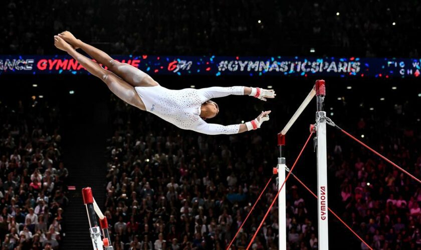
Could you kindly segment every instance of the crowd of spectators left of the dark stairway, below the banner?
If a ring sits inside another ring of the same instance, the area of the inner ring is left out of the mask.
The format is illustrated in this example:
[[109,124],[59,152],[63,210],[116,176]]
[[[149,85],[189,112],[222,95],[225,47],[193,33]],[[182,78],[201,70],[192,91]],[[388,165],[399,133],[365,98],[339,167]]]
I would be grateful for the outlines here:
[[58,249],[68,175],[59,109],[37,99],[0,101],[1,249]]

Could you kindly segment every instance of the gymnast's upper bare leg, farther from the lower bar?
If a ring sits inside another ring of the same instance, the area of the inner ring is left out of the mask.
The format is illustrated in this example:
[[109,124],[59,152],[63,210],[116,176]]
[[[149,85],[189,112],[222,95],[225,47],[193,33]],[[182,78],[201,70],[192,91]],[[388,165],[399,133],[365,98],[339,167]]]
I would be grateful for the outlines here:
[[114,60],[104,51],[89,45],[70,33],[69,31],[64,31],[59,34],[61,38],[70,43],[75,48],[82,48],[87,54],[94,58],[98,63],[106,66],[108,70],[115,73],[119,77],[123,78],[125,81],[130,83],[130,85],[136,86],[156,86],[159,85],[158,82],[152,79],[147,73],[142,70],[127,64]]

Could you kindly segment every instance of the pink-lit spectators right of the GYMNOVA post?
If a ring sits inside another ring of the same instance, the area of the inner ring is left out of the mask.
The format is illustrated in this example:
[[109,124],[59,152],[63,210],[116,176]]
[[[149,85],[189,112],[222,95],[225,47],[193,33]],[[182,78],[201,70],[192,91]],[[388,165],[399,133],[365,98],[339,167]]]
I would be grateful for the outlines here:
[[[369,135],[376,149],[421,177],[421,130],[408,103],[385,115],[360,118],[355,132]],[[379,111],[381,113],[382,111]],[[410,121],[413,120],[413,121]],[[386,136],[385,136],[386,135]],[[340,187],[343,218],[374,249],[421,247],[421,187],[412,177],[365,148],[338,139],[328,166]],[[369,249],[361,243],[361,249]]]

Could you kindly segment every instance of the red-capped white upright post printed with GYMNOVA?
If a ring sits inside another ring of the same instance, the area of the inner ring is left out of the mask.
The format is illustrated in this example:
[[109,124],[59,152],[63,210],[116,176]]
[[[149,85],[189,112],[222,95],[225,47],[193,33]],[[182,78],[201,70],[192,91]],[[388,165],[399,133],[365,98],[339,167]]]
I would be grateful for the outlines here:
[[319,249],[329,249],[328,219],[327,219],[327,152],[326,152],[326,112],[323,111],[323,101],[326,94],[325,81],[316,81],[317,112],[317,213],[319,227]]

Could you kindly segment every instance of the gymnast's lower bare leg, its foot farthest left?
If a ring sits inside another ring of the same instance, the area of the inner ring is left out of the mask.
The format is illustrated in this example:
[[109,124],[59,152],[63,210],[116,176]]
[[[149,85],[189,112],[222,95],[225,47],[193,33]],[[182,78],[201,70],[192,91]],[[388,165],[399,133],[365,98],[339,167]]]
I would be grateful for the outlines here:
[[142,99],[139,97],[132,85],[125,82],[123,79],[119,78],[112,72],[104,69],[95,61],[77,52],[69,43],[67,43],[57,35],[54,36],[54,45],[56,45],[57,48],[68,52],[91,74],[102,79],[105,82],[105,84],[107,84],[108,88],[120,99],[124,100],[130,105],[138,107],[142,110],[146,110],[145,104],[143,103]]

